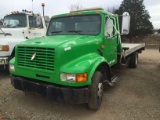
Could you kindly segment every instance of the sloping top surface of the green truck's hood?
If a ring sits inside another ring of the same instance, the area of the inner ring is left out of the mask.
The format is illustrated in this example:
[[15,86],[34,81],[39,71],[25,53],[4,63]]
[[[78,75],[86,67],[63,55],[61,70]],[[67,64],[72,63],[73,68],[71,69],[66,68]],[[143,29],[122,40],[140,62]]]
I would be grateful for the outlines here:
[[47,48],[55,48],[57,46],[73,46],[76,44],[83,44],[87,42],[93,41],[93,39],[97,39],[95,36],[81,36],[81,35],[55,35],[55,36],[45,36],[42,38],[35,38],[31,40],[27,40],[25,42],[20,43],[19,45],[24,46],[35,46],[35,47],[47,47]]

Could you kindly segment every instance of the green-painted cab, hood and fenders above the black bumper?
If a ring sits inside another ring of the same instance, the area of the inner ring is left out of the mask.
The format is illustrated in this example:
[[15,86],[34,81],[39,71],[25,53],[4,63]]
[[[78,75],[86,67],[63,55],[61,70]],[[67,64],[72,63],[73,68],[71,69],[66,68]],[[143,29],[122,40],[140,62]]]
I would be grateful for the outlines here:
[[[122,52],[119,35],[105,37],[105,22],[108,17],[114,20],[115,28],[119,31],[118,17],[103,10],[99,13],[91,10],[81,14],[76,12],[74,15],[70,13],[69,16],[55,16],[51,19],[46,37],[28,40],[16,46],[15,58],[10,61],[10,64],[15,65],[15,71],[10,73],[64,86],[90,85],[96,68],[104,62],[110,67],[115,65],[117,53]],[[72,19],[80,22],[73,27]],[[68,20],[68,24],[64,26],[65,20]],[[99,25],[97,29],[95,24]],[[64,29],[66,26],[69,28],[67,31]],[[73,31],[72,27],[76,30]],[[101,45],[105,48],[102,49]],[[36,56],[31,60],[34,53]],[[88,81],[64,82],[60,80],[60,73],[88,73]],[[37,74],[48,78],[37,77]]]

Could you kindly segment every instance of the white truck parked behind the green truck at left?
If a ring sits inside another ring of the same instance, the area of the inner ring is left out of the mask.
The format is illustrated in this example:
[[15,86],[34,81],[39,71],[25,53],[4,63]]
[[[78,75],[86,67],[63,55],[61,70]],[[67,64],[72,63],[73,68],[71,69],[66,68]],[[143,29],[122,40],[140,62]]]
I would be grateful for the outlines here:
[[25,40],[44,37],[49,17],[30,11],[14,11],[3,19],[0,28],[0,69],[8,69],[8,62],[14,57],[15,46]]

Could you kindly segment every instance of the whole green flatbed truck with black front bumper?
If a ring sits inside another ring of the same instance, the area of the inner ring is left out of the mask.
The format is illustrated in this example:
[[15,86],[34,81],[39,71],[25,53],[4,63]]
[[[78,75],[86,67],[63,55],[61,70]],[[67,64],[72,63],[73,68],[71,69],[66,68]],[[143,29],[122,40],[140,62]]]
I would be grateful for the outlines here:
[[[129,32],[123,14],[121,34]],[[53,16],[45,37],[18,44],[10,60],[14,88],[69,103],[101,106],[106,84],[113,86],[117,64],[136,68],[145,44],[122,44],[118,15],[85,9]]]

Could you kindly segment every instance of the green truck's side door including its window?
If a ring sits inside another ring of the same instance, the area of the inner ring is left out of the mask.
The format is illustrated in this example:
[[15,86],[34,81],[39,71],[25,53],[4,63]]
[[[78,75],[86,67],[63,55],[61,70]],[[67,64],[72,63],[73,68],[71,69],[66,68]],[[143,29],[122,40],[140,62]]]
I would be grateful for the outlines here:
[[117,62],[117,35],[115,31],[115,19],[106,17],[104,30],[104,57],[108,60],[109,65]]

